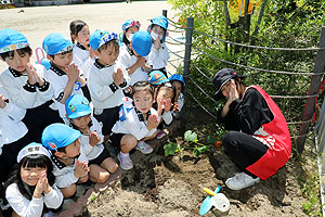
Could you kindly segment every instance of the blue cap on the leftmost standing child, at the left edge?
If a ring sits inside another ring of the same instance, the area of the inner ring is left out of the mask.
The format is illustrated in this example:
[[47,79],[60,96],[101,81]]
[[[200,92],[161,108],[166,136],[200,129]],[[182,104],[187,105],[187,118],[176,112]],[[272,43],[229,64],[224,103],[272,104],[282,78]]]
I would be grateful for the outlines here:
[[28,47],[27,38],[17,30],[4,28],[0,30],[0,53]]

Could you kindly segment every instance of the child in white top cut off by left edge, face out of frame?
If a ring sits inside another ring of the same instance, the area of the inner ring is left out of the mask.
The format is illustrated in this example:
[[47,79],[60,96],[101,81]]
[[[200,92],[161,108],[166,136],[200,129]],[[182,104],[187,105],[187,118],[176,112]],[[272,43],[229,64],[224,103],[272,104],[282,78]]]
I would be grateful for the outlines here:
[[21,122],[26,110],[6,100],[6,91],[0,87],[0,190],[2,182],[6,180],[12,167],[16,164],[18,152],[30,142],[28,129]]

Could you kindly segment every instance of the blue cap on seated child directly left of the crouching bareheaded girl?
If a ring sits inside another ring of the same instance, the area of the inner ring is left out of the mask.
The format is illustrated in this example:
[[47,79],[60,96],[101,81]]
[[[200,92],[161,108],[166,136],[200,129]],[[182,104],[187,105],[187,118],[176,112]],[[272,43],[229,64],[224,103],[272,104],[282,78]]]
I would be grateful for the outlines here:
[[65,111],[68,118],[72,119],[89,115],[92,112],[89,101],[82,94],[70,95],[65,101]]

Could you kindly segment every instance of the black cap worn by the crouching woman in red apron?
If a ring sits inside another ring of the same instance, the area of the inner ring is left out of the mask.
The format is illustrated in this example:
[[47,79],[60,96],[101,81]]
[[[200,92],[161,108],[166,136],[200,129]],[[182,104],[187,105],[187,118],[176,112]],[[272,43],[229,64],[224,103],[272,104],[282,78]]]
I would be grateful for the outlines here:
[[217,88],[217,91],[214,92],[214,95],[218,95],[220,92],[222,86],[224,86],[227,81],[230,81],[233,78],[245,78],[245,75],[238,75],[235,69],[233,68],[222,68],[216,75],[213,76],[213,85]]

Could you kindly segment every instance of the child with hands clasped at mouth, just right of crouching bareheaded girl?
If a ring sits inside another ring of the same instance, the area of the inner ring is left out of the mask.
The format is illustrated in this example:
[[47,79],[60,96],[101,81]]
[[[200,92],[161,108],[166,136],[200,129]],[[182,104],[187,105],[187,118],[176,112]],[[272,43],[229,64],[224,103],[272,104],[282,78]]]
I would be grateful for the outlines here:
[[157,113],[161,116],[161,124],[158,127],[157,139],[165,137],[162,131],[164,124],[170,125],[172,123],[171,108],[174,104],[176,89],[170,82],[161,82],[157,87],[156,103]]

